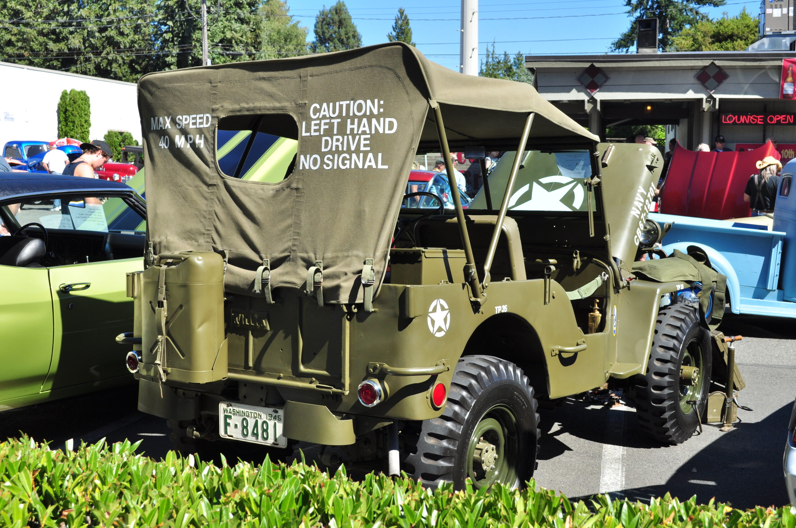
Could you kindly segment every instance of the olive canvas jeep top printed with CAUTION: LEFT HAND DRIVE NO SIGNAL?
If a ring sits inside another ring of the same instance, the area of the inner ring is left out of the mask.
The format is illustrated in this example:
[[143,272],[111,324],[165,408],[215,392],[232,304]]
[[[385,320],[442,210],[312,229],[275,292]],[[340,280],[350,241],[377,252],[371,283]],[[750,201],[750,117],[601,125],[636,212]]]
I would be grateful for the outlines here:
[[[384,277],[414,154],[437,142],[437,104],[452,145],[519,138],[529,112],[532,139],[598,141],[529,84],[464,76],[400,42],[151,73],[139,111],[154,253],[226,251],[225,288],[252,295],[265,260],[271,288],[303,287],[321,262],[325,302],[362,301],[365,262],[375,288]],[[220,122],[297,142],[283,179],[225,174]]]

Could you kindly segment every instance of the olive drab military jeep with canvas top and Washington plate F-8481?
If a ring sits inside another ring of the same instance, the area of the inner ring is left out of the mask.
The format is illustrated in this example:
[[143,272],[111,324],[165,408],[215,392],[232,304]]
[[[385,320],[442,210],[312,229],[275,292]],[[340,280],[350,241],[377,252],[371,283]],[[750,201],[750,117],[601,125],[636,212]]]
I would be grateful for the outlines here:
[[[721,285],[653,254],[657,149],[400,42],[153,73],[139,109],[149,250],[120,340],[180,448],[521,486],[539,402],[609,380],[659,441],[696,429]],[[466,210],[405,194],[416,153],[451,149],[505,154]]]

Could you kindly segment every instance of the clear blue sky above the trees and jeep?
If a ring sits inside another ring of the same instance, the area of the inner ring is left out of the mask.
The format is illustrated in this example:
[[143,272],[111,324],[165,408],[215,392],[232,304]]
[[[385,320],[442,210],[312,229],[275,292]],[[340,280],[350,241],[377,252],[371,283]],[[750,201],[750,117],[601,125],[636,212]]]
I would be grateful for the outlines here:
[[[310,28],[313,40],[314,17],[336,0],[287,0],[294,20]],[[460,3],[455,0],[345,0],[363,45],[387,41],[387,33],[399,7],[412,23],[412,37],[418,49],[431,60],[458,71]],[[736,15],[743,6],[753,16],[759,0],[727,0],[725,6],[704,10],[711,17]],[[514,55],[604,53],[630,24],[623,0],[482,0],[479,2],[478,41],[483,60],[486,46]],[[492,19],[492,20],[490,20]]]

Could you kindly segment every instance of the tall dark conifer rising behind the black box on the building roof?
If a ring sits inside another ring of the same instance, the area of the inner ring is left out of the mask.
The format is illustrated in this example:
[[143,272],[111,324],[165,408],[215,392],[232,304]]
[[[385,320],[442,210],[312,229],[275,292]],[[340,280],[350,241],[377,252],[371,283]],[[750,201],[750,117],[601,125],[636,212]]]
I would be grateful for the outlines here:
[[630,27],[613,43],[613,51],[629,52],[636,44],[637,22],[641,18],[657,18],[658,45],[669,49],[670,39],[699,21],[708,20],[700,7],[724,6],[726,0],[625,0],[627,14],[632,21]]

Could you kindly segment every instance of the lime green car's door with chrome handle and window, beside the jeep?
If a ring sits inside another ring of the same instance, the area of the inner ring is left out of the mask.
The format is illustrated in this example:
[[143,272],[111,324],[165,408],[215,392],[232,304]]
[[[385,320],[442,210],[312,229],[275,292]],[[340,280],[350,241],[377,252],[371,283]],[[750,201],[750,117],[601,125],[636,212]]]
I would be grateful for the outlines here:
[[126,379],[127,348],[114,338],[132,323],[126,274],[143,269],[142,217],[118,197],[69,196],[56,207],[25,202],[16,219],[41,223],[49,234],[48,262],[33,270],[42,274],[49,301],[52,361],[41,391],[74,393]]

